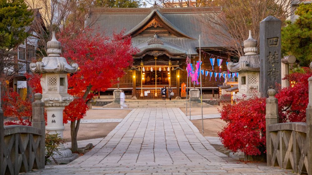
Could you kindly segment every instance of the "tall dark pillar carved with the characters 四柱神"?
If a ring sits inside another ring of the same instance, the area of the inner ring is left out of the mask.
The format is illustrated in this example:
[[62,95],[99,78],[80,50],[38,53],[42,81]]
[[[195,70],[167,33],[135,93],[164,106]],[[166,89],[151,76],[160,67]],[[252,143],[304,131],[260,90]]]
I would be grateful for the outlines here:
[[281,84],[280,53],[281,21],[268,16],[260,22],[260,94],[267,97],[268,89]]

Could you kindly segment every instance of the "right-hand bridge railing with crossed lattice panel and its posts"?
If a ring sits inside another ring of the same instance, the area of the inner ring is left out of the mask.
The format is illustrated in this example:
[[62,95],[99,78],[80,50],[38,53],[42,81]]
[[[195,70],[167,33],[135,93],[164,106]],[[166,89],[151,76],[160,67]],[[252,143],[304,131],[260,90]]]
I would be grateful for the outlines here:
[[[309,78],[310,79],[310,78]],[[295,173],[312,175],[312,84],[309,80],[307,122],[279,123],[276,91],[268,91],[266,99],[267,166],[292,169]]]

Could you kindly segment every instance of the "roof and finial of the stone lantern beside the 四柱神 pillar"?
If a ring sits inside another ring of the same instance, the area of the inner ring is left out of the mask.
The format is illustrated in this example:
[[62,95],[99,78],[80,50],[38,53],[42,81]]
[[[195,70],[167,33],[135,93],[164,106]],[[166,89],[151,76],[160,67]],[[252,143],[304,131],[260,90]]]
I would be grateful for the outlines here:
[[241,56],[237,63],[229,62],[227,69],[231,72],[248,72],[248,71],[260,71],[260,57],[257,54],[257,40],[251,36],[251,30],[249,30],[249,37],[244,41],[244,53],[245,56]]

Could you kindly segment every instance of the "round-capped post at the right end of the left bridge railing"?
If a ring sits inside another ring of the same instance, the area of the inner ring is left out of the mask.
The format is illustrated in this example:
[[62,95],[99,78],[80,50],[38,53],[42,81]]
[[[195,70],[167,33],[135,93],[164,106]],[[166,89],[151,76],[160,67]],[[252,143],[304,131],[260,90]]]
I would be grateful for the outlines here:
[[41,129],[42,136],[40,138],[40,146],[37,150],[39,155],[39,165],[38,168],[42,169],[45,165],[45,131],[46,131],[46,121],[44,119],[44,103],[41,102],[42,94],[35,94],[35,102],[32,103],[32,127]]

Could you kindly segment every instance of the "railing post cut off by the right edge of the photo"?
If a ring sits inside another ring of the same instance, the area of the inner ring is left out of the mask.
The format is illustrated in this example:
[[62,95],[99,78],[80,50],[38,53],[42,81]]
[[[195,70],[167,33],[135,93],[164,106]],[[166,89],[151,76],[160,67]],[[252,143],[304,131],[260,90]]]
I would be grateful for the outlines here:
[[[310,69],[312,69],[312,62],[310,63]],[[309,104],[306,108],[307,116],[307,144],[308,144],[308,174],[312,174],[312,76],[309,81]]]

